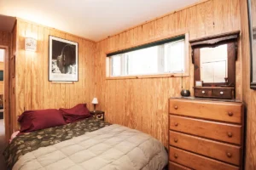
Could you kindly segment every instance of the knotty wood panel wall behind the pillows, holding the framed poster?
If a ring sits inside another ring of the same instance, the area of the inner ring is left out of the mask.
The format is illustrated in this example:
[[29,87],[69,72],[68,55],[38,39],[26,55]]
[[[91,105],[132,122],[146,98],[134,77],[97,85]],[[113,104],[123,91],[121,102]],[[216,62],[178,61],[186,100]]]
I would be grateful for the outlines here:
[[[24,49],[28,35],[38,39],[36,52]],[[48,81],[49,35],[79,42],[79,82],[58,84]],[[18,19],[16,46],[16,116],[27,110],[70,108],[79,103],[88,103],[91,108],[95,91],[96,42]]]

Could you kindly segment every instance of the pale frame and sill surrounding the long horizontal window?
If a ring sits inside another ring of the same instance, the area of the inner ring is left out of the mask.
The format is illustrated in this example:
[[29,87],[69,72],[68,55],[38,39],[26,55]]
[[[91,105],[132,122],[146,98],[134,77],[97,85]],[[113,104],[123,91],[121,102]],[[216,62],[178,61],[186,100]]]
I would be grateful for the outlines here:
[[[123,49],[119,49],[119,50],[113,50],[113,51],[109,51],[108,53],[106,53],[106,79],[133,79],[133,78],[150,78],[150,77],[189,77],[189,33],[183,33],[183,34],[179,34],[179,35],[175,35],[172,36],[173,38],[175,37],[179,37],[179,36],[184,36],[184,71],[181,73],[157,73],[157,74],[148,74],[148,75],[122,75],[122,73],[124,73],[124,69],[121,69],[121,75],[119,77],[112,77],[112,59],[110,59],[111,57],[107,57],[107,54],[112,54],[114,52],[120,51],[120,50],[125,50],[126,48]],[[167,39],[167,38],[172,38],[172,37],[165,37],[163,39]],[[157,41],[152,41],[152,42],[158,42],[160,41],[160,39],[158,39]],[[151,42],[149,42],[151,43]],[[142,43],[142,44],[138,44],[136,46],[130,47],[130,48],[134,48],[137,46],[141,46],[147,43]],[[125,57],[121,57],[121,62],[124,62]],[[159,58],[161,59],[161,58]],[[159,62],[160,64],[160,62]],[[121,65],[124,65],[124,63],[122,63]],[[160,68],[160,67],[159,67]]]

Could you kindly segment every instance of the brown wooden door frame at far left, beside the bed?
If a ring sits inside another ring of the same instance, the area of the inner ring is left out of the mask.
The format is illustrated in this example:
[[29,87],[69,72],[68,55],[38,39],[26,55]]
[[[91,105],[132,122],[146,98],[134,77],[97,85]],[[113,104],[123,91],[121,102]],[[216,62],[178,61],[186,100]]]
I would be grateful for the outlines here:
[[4,58],[3,58],[3,118],[4,118],[4,127],[5,127],[5,139],[9,140],[11,136],[11,117],[10,117],[10,105],[9,105],[9,46],[0,45],[1,49],[4,49]]

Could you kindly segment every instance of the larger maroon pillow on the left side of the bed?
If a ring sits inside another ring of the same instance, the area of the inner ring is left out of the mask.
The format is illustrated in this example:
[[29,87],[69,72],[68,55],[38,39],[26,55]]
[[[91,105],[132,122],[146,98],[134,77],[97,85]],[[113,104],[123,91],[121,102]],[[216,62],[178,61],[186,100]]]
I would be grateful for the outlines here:
[[56,109],[25,111],[19,116],[20,133],[65,125],[61,112]]

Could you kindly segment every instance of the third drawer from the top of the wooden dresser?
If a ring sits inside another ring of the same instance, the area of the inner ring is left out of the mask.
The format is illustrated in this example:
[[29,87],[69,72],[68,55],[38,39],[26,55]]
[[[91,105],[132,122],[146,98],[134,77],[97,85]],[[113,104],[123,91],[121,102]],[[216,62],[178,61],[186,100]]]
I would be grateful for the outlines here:
[[183,133],[169,132],[169,144],[219,161],[240,165],[241,147],[202,139]]

